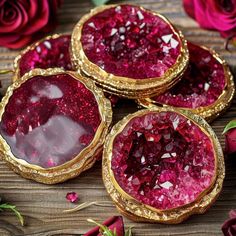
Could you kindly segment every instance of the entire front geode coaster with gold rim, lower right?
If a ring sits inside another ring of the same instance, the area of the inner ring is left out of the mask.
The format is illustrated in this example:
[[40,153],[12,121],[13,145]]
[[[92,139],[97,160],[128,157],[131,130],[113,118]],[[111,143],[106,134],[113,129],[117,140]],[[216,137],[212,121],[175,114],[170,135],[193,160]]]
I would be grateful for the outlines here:
[[180,223],[204,213],[225,175],[220,143],[200,116],[150,108],[125,117],[107,136],[103,180],[134,221]]

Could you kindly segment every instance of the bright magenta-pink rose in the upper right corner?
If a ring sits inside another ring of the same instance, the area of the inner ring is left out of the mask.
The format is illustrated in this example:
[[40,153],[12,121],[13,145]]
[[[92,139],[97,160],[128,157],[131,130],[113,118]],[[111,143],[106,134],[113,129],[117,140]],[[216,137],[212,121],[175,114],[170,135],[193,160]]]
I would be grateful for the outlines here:
[[183,0],[183,5],[202,28],[217,30],[223,37],[236,35],[236,0]]

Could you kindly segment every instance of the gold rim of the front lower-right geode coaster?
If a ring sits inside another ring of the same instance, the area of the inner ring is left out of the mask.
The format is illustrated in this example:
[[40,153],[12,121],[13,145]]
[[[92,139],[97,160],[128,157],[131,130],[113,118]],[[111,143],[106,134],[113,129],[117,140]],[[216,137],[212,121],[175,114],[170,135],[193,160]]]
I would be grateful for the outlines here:
[[[120,131],[126,124],[136,116],[146,114],[148,112],[160,112],[160,111],[173,111],[177,112],[188,119],[192,120],[195,124],[197,124],[204,133],[212,141],[215,151],[216,158],[216,175],[215,181],[213,181],[212,186],[204,192],[199,198],[197,198],[194,202],[186,204],[184,206],[170,209],[170,210],[158,210],[153,207],[147,206],[127,193],[124,194],[124,190],[121,191],[119,184],[112,178],[112,170],[111,170],[111,157],[112,157],[112,146],[113,140],[116,137],[118,131]],[[106,187],[106,190],[112,200],[115,202],[117,208],[121,211],[121,213],[125,213],[126,216],[135,221],[148,221],[148,222],[160,222],[160,223],[171,223],[176,224],[180,223],[189,216],[193,214],[201,214],[204,213],[216,200],[219,195],[223,180],[225,176],[225,166],[224,166],[224,156],[222,152],[221,145],[219,140],[209,126],[209,124],[200,116],[195,115],[189,111],[175,109],[171,107],[167,108],[159,108],[152,107],[146,110],[138,111],[134,114],[128,115],[123,118],[122,121],[118,122],[109,135],[106,138],[104,144],[103,151],[103,181]],[[117,187],[118,186],[118,187]]]

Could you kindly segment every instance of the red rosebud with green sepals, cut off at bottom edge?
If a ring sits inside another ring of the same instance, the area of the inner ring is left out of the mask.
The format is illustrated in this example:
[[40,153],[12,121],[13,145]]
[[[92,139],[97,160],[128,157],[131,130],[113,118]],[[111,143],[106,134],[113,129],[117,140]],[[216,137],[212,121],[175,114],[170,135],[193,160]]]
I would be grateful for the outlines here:
[[[97,236],[97,235],[116,235],[124,236],[124,222],[122,216],[112,216],[102,224],[95,222],[94,220],[89,219],[89,222],[92,222],[97,225],[97,227],[88,231],[84,236]],[[109,234],[108,234],[109,233]]]

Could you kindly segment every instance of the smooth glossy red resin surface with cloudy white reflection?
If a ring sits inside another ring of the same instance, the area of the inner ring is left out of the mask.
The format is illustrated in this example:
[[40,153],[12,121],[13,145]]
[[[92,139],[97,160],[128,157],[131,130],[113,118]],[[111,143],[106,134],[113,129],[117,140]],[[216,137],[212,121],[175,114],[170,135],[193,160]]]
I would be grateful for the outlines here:
[[0,132],[15,157],[44,168],[64,164],[101,122],[93,93],[70,75],[35,76],[15,89]]

